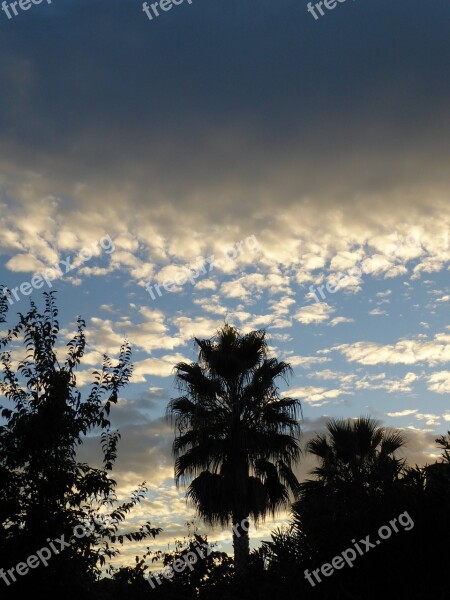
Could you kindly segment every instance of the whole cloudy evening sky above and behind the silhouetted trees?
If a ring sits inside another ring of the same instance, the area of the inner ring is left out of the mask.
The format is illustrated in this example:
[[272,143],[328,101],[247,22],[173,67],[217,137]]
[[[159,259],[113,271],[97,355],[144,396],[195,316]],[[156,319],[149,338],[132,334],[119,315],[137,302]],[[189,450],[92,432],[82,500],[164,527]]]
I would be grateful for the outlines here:
[[61,346],[87,322],[84,392],[102,353],[130,341],[116,475],[123,497],[147,481],[135,519],[164,528],[155,548],[195,517],[173,481],[173,367],[225,322],[266,329],[292,365],[280,393],[302,402],[303,443],[329,417],[371,415],[424,464],[450,428],[450,5],[347,0],[317,19],[307,7],[0,12],[11,323],[56,290]]

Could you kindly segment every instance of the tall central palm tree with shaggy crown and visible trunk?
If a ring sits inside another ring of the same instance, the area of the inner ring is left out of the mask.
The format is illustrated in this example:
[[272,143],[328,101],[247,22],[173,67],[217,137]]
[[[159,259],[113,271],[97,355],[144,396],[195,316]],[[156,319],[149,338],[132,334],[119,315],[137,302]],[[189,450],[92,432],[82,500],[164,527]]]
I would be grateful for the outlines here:
[[289,504],[298,490],[298,400],[281,398],[276,380],[290,366],[268,357],[265,331],[241,334],[225,325],[195,342],[198,363],[176,365],[183,393],[167,412],[175,423],[175,480],[211,525],[233,524],[235,572],[245,576],[248,519]]

